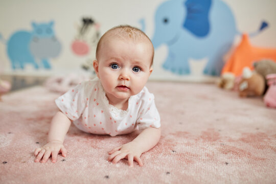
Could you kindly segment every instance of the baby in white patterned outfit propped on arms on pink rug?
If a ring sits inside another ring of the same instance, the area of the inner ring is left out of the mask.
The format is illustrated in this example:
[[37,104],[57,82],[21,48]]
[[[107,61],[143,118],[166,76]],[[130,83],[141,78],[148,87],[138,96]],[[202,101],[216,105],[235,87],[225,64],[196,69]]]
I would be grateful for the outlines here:
[[35,162],[55,163],[59,153],[66,156],[64,137],[71,125],[93,134],[111,136],[141,133],[131,142],[108,152],[108,160],[128,159],[143,166],[141,154],[160,139],[160,117],[154,96],[145,84],[152,72],[153,45],[139,29],[119,26],[108,30],[99,40],[93,62],[97,78],[84,81],[56,99],[60,111],[51,122],[49,140],[34,151]]

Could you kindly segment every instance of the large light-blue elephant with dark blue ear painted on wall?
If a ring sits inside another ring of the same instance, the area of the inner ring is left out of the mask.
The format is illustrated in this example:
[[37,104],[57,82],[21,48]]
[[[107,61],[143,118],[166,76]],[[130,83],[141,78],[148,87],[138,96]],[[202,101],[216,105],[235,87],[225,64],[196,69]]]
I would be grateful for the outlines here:
[[[267,26],[263,22],[260,32]],[[170,0],[155,13],[154,48],[167,44],[166,70],[191,73],[188,60],[208,58],[203,73],[219,76],[223,56],[232,47],[237,31],[234,15],[221,0]],[[255,33],[252,33],[253,35]]]

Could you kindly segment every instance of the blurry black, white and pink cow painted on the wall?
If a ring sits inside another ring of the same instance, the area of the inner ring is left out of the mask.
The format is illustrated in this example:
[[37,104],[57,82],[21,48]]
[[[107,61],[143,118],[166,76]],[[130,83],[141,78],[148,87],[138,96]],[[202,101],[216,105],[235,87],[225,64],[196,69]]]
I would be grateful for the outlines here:
[[97,43],[100,39],[100,25],[92,18],[82,18],[82,24],[77,26],[77,35],[72,43],[72,51],[78,56],[87,56],[82,68],[86,71],[93,71],[93,60]]

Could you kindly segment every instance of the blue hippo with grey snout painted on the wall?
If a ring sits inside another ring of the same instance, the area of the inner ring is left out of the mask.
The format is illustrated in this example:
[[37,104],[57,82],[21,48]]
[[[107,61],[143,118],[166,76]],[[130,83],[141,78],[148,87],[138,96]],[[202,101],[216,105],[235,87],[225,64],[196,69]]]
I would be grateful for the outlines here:
[[6,43],[13,70],[24,69],[28,63],[36,69],[51,68],[49,58],[55,58],[61,52],[61,44],[55,36],[53,26],[53,21],[47,24],[32,22],[32,31],[17,31],[12,34]]

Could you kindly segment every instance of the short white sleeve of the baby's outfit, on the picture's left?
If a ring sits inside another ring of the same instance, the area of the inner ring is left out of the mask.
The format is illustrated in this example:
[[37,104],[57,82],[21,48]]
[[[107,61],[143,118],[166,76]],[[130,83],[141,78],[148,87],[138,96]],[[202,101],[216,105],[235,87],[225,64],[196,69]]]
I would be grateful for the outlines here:
[[70,120],[75,121],[79,119],[85,110],[89,98],[86,84],[87,82],[78,84],[55,100],[58,108]]

